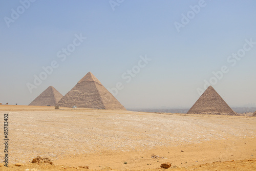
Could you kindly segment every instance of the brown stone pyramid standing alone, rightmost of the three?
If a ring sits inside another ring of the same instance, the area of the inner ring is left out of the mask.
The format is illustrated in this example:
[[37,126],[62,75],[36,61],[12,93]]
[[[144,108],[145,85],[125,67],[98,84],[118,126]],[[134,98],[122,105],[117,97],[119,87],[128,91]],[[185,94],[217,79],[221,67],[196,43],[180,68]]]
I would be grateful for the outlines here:
[[187,114],[237,115],[211,86],[205,90]]

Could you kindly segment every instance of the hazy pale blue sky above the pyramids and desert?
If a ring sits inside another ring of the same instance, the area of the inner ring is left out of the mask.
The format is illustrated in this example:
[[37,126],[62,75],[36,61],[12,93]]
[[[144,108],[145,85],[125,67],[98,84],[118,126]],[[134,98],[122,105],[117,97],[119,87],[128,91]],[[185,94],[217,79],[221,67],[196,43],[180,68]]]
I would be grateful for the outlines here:
[[65,95],[91,71],[105,88],[121,82],[113,94],[125,108],[190,108],[205,81],[230,106],[255,106],[255,7],[253,0],[3,0],[0,102],[28,105],[49,86]]

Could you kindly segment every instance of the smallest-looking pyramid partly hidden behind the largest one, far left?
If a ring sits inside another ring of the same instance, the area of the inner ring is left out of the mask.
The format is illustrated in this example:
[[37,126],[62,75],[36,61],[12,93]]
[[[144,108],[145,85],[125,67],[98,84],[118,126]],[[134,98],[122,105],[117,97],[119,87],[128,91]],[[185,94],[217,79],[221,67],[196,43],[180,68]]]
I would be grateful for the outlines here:
[[44,92],[42,92],[38,97],[36,97],[29,105],[51,105],[51,106],[55,106],[55,104],[62,97],[63,96],[54,87],[50,86]]

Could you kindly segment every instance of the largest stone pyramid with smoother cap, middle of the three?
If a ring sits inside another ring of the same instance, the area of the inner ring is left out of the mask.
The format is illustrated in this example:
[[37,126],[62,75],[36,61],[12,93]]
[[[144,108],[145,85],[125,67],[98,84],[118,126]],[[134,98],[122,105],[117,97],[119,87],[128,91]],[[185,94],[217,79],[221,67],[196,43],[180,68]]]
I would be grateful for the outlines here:
[[57,105],[69,108],[76,105],[78,108],[126,110],[91,72],[87,73]]

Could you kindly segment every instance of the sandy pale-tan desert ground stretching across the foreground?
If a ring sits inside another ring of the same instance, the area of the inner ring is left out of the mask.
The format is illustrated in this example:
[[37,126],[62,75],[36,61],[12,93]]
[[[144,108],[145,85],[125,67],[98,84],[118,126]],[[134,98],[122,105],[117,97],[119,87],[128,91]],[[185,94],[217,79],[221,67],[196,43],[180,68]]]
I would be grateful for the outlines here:
[[[0,105],[8,168],[0,170],[256,170],[256,117]],[[36,156],[51,164],[35,164]],[[20,163],[21,166],[15,166]],[[79,166],[89,166],[89,169]]]

